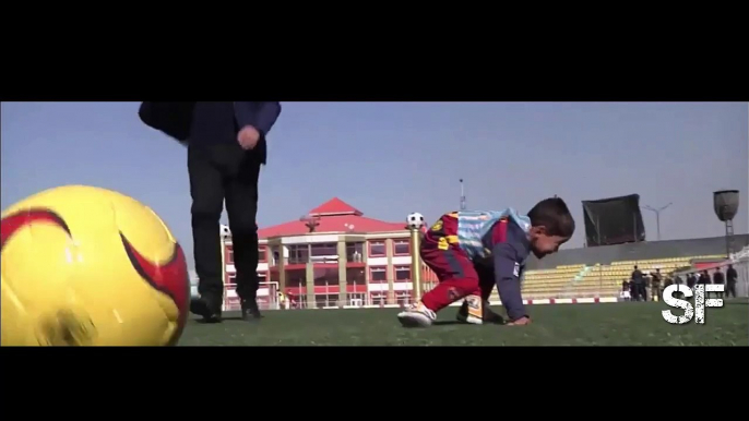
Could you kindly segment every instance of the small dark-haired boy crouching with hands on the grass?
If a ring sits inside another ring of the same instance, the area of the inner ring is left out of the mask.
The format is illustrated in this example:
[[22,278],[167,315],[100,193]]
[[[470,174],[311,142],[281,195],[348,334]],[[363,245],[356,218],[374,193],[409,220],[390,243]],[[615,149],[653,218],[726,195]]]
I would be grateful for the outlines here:
[[573,233],[574,220],[559,197],[538,202],[525,216],[512,208],[443,215],[420,250],[440,282],[397,317],[406,327],[431,326],[438,311],[464,300],[457,320],[483,324],[496,285],[509,324],[528,324],[520,282],[525,261],[531,253],[543,258],[557,252]]

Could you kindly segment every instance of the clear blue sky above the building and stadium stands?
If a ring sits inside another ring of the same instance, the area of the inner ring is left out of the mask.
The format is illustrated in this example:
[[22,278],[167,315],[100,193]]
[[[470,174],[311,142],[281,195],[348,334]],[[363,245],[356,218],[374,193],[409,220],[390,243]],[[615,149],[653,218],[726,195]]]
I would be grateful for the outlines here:
[[[367,216],[433,220],[459,207],[531,208],[558,194],[584,241],[583,200],[639,193],[673,202],[663,239],[714,237],[712,192],[741,191],[746,103],[284,103],[261,173],[259,222],[297,219],[338,196]],[[154,208],[192,266],[186,149],[138,119],[138,103],[2,103],[2,207],[44,189],[91,184]],[[647,238],[654,214],[643,211]],[[226,216],[224,215],[224,220]]]

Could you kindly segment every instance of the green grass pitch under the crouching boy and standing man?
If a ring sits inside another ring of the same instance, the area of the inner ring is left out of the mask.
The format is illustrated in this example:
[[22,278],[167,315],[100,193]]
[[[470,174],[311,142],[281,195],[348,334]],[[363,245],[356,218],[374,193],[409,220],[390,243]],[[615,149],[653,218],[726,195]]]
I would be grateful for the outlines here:
[[[532,305],[530,326],[454,323],[456,309],[427,329],[405,329],[396,309],[269,311],[260,323],[225,314],[224,323],[188,323],[181,346],[747,346],[746,300],[708,309],[706,322],[667,324],[663,303]],[[503,314],[502,309],[496,309]],[[674,314],[682,314],[673,309]]]

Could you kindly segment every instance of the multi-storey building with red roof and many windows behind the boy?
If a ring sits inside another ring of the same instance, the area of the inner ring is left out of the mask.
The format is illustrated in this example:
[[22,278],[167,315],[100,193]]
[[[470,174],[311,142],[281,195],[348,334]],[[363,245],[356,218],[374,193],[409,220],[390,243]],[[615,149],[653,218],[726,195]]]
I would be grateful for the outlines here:
[[[258,299],[276,308],[283,292],[299,308],[404,304],[411,301],[411,244],[405,222],[387,222],[334,197],[299,220],[261,228]],[[235,268],[225,238],[227,306]],[[426,280],[426,279],[425,279]]]

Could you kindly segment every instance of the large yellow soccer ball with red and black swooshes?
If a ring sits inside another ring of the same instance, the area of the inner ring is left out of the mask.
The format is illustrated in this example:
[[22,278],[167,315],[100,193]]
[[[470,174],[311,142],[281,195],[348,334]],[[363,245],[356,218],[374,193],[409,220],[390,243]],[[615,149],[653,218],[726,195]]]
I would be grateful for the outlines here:
[[176,345],[188,316],[185,254],[123,194],[68,185],[2,213],[2,346]]

